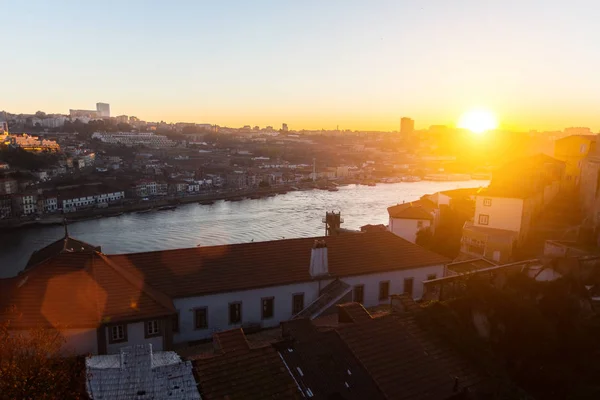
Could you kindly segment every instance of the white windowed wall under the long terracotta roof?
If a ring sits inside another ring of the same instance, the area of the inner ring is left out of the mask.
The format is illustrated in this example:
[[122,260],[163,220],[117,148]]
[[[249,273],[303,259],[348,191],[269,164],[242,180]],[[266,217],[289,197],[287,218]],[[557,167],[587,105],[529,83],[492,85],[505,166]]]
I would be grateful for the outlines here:
[[[363,304],[365,307],[372,307],[381,303],[379,301],[379,282],[390,281],[390,294],[396,294],[404,292],[404,278],[413,278],[413,296],[418,299],[423,295],[422,281],[426,280],[427,275],[430,274],[436,274],[437,277],[443,276],[444,266],[437,265],[410,270],[352,276],[341,278],[341,280],[351,286],[364,285]],[[331,281],[331,279],[321,281],[320,288],[324,288]],[[295,293],[304,293],[304,306],[306,307],[318,298],[319,282],[311,281],[293,285],[175,299],[175,308],[179,312],[179,332],[174,333],[173,343],[209,339],[216,332],[241,327],[248,323],[260,323],[262,327],[277,327],[282,321],[287,321],[292,317],[292,295]],[[261,300],[263,297],[274,298],[273,317],[268,320],[261,320]],[[229,303],[238,301],[242,302],[242,323],[230,325]],[[196,330],[194,325],[194,310],[201,307],[206,307],[208,310],[208,328]]]

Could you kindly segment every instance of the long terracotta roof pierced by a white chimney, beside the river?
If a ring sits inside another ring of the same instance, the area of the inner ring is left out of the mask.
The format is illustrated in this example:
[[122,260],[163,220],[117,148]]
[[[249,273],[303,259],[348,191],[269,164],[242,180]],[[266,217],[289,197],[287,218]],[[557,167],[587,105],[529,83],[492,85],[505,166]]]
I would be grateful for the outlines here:
[[[450,260],[391,232],[321,238],[332,277],[446,264]],[[312,280],[315,238],[194,247],[107,256],[173,297],[206,295]]]

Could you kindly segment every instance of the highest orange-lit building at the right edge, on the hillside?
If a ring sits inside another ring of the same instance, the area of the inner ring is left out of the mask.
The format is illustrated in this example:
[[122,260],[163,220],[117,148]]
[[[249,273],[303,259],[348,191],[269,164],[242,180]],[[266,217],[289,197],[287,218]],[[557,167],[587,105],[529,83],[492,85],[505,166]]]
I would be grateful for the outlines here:
[[554,142],[554,157],[565,162],[562,187],[567,190],[579,188],[581,167],[588,154],[596,149],[596,135],[572,135]]

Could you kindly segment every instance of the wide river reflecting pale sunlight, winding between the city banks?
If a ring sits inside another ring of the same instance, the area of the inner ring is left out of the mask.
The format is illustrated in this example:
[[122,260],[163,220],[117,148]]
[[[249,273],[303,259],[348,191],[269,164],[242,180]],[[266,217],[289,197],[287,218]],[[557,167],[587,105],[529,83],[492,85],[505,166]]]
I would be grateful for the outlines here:
[[[388,223],[387,207],[441,190],[487,186],[488,181],[404,182],[350,185],[337,192],[296,191],[276,197],[215,204],[186,204],[173,211],[124,214],[76,222],[69,234],[107,254],[165,250],[197,245],[322,236],[326,211],[341,211],[342,228]],[[16,275],[31,253],[61,238],[62,226],[0,233],[0,278]]]

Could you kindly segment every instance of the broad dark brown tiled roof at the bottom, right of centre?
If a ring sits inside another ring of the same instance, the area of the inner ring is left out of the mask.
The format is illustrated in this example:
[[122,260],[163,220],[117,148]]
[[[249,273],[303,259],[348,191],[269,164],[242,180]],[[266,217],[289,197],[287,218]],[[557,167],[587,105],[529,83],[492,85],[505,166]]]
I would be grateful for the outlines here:
[[388,314],[336,329],[390,400],[438,400],[479,383],[480,377],[452,349],[410,315]]

